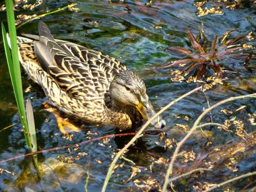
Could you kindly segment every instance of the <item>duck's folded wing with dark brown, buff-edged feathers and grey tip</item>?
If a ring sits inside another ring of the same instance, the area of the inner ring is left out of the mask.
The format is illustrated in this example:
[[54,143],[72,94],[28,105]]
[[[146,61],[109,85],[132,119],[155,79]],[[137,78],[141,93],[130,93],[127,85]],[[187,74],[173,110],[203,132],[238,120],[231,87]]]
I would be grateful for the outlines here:
[[113,76],[126,67],[119,61],[77,44],[55,40],[49,28],[39,23],[39,41],[34,42],[38,61],[69,96],[103,97]]

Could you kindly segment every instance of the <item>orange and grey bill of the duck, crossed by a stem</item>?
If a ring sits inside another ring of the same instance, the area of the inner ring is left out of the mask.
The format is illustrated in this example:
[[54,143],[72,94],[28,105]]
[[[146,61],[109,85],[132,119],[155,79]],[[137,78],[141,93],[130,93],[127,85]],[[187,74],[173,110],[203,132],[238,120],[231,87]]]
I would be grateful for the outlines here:
[[[136,106],[136,108],[137,108],[137,110],[139,110],[139,113],[142,115],[142,117],[144,119],[146,119],[147,121],[148,121],[148,119],[150,119],[151,117],[156,115],[156,112],[149,101],[140,102]],[[154,125],[154,127],[163,128],[163,127],[165,127],[166,122],[160,116],[158,116],[155,119],[153,119],[151,124]]]

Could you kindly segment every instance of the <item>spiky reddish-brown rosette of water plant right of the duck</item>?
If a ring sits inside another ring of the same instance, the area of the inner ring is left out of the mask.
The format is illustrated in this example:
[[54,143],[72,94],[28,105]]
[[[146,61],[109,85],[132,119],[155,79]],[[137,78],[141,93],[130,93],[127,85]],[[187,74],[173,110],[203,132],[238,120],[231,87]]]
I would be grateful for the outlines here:
[[[202,30],[199,35],[201,38],[195,38],[192,32],[189,31],[189,40],[191,41],[194,50],[185,49],[181,46],[169,47],[168,50],[181,53],[188,58],[174,61],[166,65],[166,67],[179,65],[183,67],[181,74],[184,74],[185,76],[191,71],[196,70],[197,79],[204,77],[209,69],[213,69],[215,73],[220,75],[220,77],[223,77],[224,67],[228,69],[228,66],[224,64],[226,62],[223,62],[224,59],[235,59],[243,61],[245,69],[253,73],[253,70],[249,67],[249,61],[251,59],[256,59],[256,57],[253,56],[254,47],[251,44],[246,43],[254,40],[255,36],[250,32],[247,35],[226,40],[228,34],[232,31],[233,30],[226,32],[226,34],[220,38],[220,43],[217,43],[218,35],[216,35],[212,43],[210,43],[207,38],[205,38]],[[235,69],[230,70],[235,71]]]

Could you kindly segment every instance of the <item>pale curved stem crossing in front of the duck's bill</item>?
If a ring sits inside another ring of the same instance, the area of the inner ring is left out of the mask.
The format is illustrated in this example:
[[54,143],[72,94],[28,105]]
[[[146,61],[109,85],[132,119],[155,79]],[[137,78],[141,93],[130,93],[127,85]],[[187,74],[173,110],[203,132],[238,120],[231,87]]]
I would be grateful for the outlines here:
[[178,102],[179,100],[185,98],[186,96],[189,96],[190,94],[192,94],[193,92],[196,92],[198,90],[200,90],[202,87],[200,86],[199,88],[195,88],[194,90],[191,90],[190,92],[188,92],[187,94],[184,94],[183,96],[180,96],[179,98],[177,98],[176,100],[170,102],[169,104],[167,104],[166,106],[164,106],[164,108],[162,108],[161,110],[158,111],[158,113],[156,113],[156,115],[154,115],[154,117],[151,117],[146,123],[145,125],[143,125],[143,127],[141,127],[141,129],[137,132],[137,134],[131,139],[131,141],[129,141],[129,143],[127,143],[125,145],[125,147],[120,150],[117,153],[117,156],[115,156],[113,162],[110,164],[110,167],[108,168],[108,173],[106,174],[106,178],[104,181],[104,185],[102,187],[102,192],[106,191],[106,186],[108,185],[108,181],[111,177],[111,174],[114,170],[115,164],[117,162],[117,160],[121,157],[121,155],[125,152],[125,150],[127,150],[127,148],[129,148],[129,146],[131,146],[139,137],[141,137],[141,133],[144,131],[144,129],[146,129],[146,127],[148,125],[150,125],[151,121],[153,121],[156,117],[158,117],[161,113],[164,112],[164,110],[166,110],[167,108],[169,108],[170,106],[172,106],[173,104],[175,104],[176,102]]

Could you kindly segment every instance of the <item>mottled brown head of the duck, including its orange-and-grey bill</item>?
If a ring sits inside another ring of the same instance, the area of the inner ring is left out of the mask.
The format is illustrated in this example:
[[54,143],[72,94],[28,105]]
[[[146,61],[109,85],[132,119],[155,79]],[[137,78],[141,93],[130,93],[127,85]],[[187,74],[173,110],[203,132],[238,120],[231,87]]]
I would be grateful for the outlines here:
[[[121,71],[115,75],[110,83],[110,96],[116,108],[130,108],[134,106],[143,119],[150,119],[156,112],[150,103],[146,86],[139,75],[132,71]],[[166,123],[161,117],[152,121],[154,127],[163,128]]]

